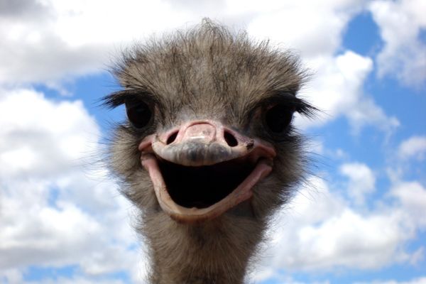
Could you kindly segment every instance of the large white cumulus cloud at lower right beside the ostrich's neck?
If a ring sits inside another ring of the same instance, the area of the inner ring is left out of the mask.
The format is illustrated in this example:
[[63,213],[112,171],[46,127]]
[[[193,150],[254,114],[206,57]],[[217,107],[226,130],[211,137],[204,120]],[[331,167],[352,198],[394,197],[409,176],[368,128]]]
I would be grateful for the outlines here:
[[[341,169],[359,183],[358,188],[371,191],[375,178],[365,165],[346,164]],[[355,169],[364,173],[366,182],[361,182],[361,174],[353,173]],[[269,259],[257,279],[278,278],[278,271],[376,269],[391,263],[413,263],[424,253],[405,248],[425,226],[426,190],[422,185],[401,182],[389,190],[395,203],[359,212],[323,180],[312,178],[310,184],[315,191],[300,190],[288,210],[278,215],[272,244],[265,253]]]

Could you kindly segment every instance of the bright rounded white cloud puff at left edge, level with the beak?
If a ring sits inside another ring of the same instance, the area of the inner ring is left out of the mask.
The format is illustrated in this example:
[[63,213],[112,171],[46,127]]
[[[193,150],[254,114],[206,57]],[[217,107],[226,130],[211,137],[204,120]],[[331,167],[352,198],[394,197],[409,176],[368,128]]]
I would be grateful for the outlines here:
[[0,89],[0,113],[2,180],[66,173],[97,145],[99,129],[81,101],[55,103],[31,89]]

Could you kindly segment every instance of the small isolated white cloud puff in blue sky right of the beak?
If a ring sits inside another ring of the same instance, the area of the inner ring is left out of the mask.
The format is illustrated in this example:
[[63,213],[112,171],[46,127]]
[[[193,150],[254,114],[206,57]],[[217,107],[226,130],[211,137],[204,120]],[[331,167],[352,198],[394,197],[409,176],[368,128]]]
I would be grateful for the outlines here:
[[367,195],[375,190],[373,171],[362,163],[346,163],[340,167],[340,173],[349,178],[347,188],[351,200],[358,205],[364,204]]

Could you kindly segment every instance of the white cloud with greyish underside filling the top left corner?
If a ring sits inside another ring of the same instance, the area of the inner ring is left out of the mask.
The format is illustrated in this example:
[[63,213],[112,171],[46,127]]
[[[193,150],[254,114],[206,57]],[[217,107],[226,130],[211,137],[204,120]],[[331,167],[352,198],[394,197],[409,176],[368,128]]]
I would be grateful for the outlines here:
[[49,82],[99,72],[133,40],[200,17],[170,1],[48,0],[6,6],[0,13],[0,82]]

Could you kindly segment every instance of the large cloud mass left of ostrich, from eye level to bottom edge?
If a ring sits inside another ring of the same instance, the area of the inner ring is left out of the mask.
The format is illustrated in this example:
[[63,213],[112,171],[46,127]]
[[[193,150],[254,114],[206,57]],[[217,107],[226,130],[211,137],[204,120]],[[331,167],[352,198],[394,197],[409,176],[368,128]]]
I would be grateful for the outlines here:
[[130,204],[102,170],[84,166],[99,127],[82,102],[2,89],[0,111],[1,277],[18,283],[28,266],[77,266],[83,278],[139,278]]

